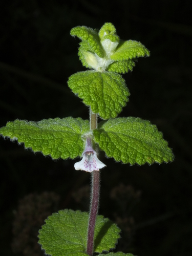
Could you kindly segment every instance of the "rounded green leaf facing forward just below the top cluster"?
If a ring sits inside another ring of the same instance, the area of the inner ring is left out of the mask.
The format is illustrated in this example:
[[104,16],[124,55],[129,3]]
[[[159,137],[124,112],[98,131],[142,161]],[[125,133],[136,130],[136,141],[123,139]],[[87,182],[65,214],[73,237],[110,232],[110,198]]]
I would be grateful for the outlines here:
[[116,117],[130,95],[122,76],[112,72],[79,72],[69,77],[68,86],[103,119]]

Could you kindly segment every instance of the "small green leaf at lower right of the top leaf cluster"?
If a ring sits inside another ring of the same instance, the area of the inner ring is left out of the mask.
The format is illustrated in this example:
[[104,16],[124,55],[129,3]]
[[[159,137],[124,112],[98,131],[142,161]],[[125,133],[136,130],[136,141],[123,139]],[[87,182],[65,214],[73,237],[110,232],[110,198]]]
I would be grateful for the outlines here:
[[133,67],[135,67],[135,62],[132,59],[115,61],[111,63],[108,67],[108,71],[117,72],[119,74],[125,74],[129,70],[133,71]]

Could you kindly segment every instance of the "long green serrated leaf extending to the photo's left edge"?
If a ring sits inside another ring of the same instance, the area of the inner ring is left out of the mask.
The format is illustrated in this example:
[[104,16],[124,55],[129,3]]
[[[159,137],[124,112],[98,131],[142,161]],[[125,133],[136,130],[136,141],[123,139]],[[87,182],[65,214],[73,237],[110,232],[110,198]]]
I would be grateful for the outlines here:
[[0,134],[25,143],[34,152],[51,155],[53,159],[81,156],[84,143],[81,135],[89,132],[88,120],[81,118],[55,118],[39,122],[15,120],[0,129]]

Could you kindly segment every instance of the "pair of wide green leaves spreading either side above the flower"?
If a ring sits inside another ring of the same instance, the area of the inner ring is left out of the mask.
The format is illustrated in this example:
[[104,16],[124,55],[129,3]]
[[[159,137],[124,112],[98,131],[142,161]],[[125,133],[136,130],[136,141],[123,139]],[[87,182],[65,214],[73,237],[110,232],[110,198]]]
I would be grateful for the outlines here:
[[[0,133],[34,152],[51,155],[53,159],[81,157],[84,151],[83,135],[90,133],[88,120],[55,118],[39,122],[15,120],[8,122]],[[93,130],[95,142],[108,157],[130,164],[152,164],[173,161],[172,150],[162,133],[150,121],[135,117],[102,121]]]

